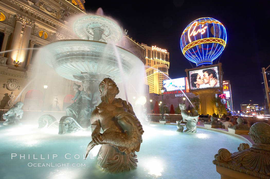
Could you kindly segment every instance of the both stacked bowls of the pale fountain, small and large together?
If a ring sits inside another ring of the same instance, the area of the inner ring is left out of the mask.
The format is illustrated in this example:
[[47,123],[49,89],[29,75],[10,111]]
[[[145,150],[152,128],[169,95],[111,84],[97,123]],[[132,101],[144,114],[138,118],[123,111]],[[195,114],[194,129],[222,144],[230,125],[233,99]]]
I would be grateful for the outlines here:
[[[102,9],[99,8],[98,12]],[[135,67],[144,65],[132,52],[114,44],[122,38],[122,29],[100,14],[85,15],[75,20],[73,29],[82,40],[49,43],[40,49],[38,57],[69,80],[94,80],[95,83],[108,77],[116,83],[126,80],[123,78],[132,75]]]

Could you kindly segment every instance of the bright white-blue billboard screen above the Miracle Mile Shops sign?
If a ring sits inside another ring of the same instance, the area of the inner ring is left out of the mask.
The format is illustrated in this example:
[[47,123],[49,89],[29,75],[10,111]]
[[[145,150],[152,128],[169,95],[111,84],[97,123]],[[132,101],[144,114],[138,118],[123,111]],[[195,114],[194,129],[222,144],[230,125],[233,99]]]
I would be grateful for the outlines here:
[[185,78],[176,78],[163,81],[164,91],[175,91],[185,89]]

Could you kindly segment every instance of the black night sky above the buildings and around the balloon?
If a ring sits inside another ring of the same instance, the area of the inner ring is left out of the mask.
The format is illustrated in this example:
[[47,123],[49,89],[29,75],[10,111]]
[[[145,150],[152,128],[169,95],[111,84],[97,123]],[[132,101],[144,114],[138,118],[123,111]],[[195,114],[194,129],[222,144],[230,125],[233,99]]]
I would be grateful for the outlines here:
[[[270,65],[270,5],[266,1],[86,1],[86,12],[103,8],[129,37],[170,53],[170,78],[186,77],[192,68],[180,48],[185,27],[200,17],[219,20],[227,31],[227,44],[213,63],[220,61],[223,79],[230,80],[234,110],[245,100],[264,102],[262,67]],[[192,63],[195,67],[196,65]],[[270,71],[270,68],[268,69]],[[270,80],[270,74],[267,75]],[[270,84],[270,82],[268,83]]]

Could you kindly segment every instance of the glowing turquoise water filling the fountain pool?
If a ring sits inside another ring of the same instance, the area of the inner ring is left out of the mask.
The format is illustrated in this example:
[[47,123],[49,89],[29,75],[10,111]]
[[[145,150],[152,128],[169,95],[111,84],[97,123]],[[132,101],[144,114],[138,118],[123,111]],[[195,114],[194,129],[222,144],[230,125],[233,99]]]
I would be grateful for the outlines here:
[[[176,129],[175,125],[144,125],[137,169],[109,174],[102,172],[96,164],[98,156],[95,155],[101,145],[90,151],[88,159],[83,159],[91,132],[58,135],[58,129],[38,129],[37,124],[0,125],[1,178],[220,178],[212,164],[214,155],[220,148],[236,152],[239,144],[244,142],[231,135],[201,128],[197,128],[195,134],[179,133]],[[11,159],[11,153],[17,156]],[[65,159],[67,153],[70,155],[66,158],[70,159]],[[20,154],[25,154],[25,159],[19,159]],[[33,154],[37,159],[33,159]],[[45,159],[40,159],[40,154]],[[58,156],[52,159],[53,154]],[[90,159],[90,154],[95,159]],[[75,163],[85,166],[29,167],[28,163],[52,163],[53,166],[55,163]]]

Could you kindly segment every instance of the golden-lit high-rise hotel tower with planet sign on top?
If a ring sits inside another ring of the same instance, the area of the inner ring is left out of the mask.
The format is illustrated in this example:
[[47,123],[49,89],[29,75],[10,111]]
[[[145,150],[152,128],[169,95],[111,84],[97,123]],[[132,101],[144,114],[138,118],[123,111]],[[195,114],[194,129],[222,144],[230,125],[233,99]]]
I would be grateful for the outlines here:
[[163,80],[168,79],[169,75],[169,52],[155,46],[148,46],[141,43],[144,48],[144,58],[146,59],[146,79],[145,84],[149,85],[149,93],[161,94]]

